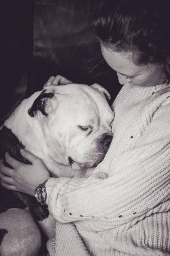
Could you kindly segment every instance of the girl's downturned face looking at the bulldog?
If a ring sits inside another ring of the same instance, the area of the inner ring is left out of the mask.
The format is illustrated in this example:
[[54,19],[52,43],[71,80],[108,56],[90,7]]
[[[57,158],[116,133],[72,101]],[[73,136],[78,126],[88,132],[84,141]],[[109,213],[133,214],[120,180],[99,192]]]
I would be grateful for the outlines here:
[[112,49],[103,46],[101,46],[101,51],[105,61],[116,71],[120,84],[155,86],[166,81],[159,65],[136,66],[133,64],[130,52],[113,52]]

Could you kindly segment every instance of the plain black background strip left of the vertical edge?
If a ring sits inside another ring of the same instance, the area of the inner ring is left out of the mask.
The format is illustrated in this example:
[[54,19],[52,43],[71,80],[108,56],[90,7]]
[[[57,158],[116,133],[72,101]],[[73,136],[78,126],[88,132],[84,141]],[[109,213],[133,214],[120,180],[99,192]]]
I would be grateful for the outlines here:
[[33,90],[33,14],[32,0],[0,3],[0,125]]

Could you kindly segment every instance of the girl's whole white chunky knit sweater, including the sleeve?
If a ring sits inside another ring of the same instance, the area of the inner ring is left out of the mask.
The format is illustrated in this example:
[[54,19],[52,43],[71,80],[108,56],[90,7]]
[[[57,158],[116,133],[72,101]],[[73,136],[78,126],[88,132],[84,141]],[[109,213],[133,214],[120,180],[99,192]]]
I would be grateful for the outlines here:
[[46,183],[51,256],[170,255],[170,85],[125,84],[102,163]]

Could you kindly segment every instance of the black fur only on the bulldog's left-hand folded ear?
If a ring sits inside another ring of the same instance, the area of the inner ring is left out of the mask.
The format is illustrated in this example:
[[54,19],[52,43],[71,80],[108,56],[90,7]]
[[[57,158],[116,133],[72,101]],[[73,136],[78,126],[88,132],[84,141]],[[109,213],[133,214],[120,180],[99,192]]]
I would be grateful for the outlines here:
[[34,111],[40,110],[41,113],[44,116],[48,116],[48,113],[45,112],[45,105],[46,105],[46,100],[48,98],[54,97],[54,93],[45,93],[46,89],[40,93],[40,95],[37,97],[37,99],[34,100],[33,105],[31,108],[28,109],[28,114],[31,117],[34,117]]

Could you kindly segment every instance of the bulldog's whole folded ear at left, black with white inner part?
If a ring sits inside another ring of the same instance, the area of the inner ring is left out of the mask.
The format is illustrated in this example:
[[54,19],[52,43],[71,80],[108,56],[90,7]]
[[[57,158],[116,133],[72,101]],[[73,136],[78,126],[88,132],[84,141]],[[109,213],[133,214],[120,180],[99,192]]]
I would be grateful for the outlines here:
[[55,101],[55,104],[54,101],[52,102],[51,100],[53,97],[54,93],[48,92],[46,89],[43,90],[37,97],[37,99],[34,100],[31,108],[28,109],[28,114],[31,117],[34,117],[34,111],[39,110],[44,116],[48,116],[48,114],[54,110],[54,107],[57,108],[57,106],[55,106],[57,104],[57,101]]

